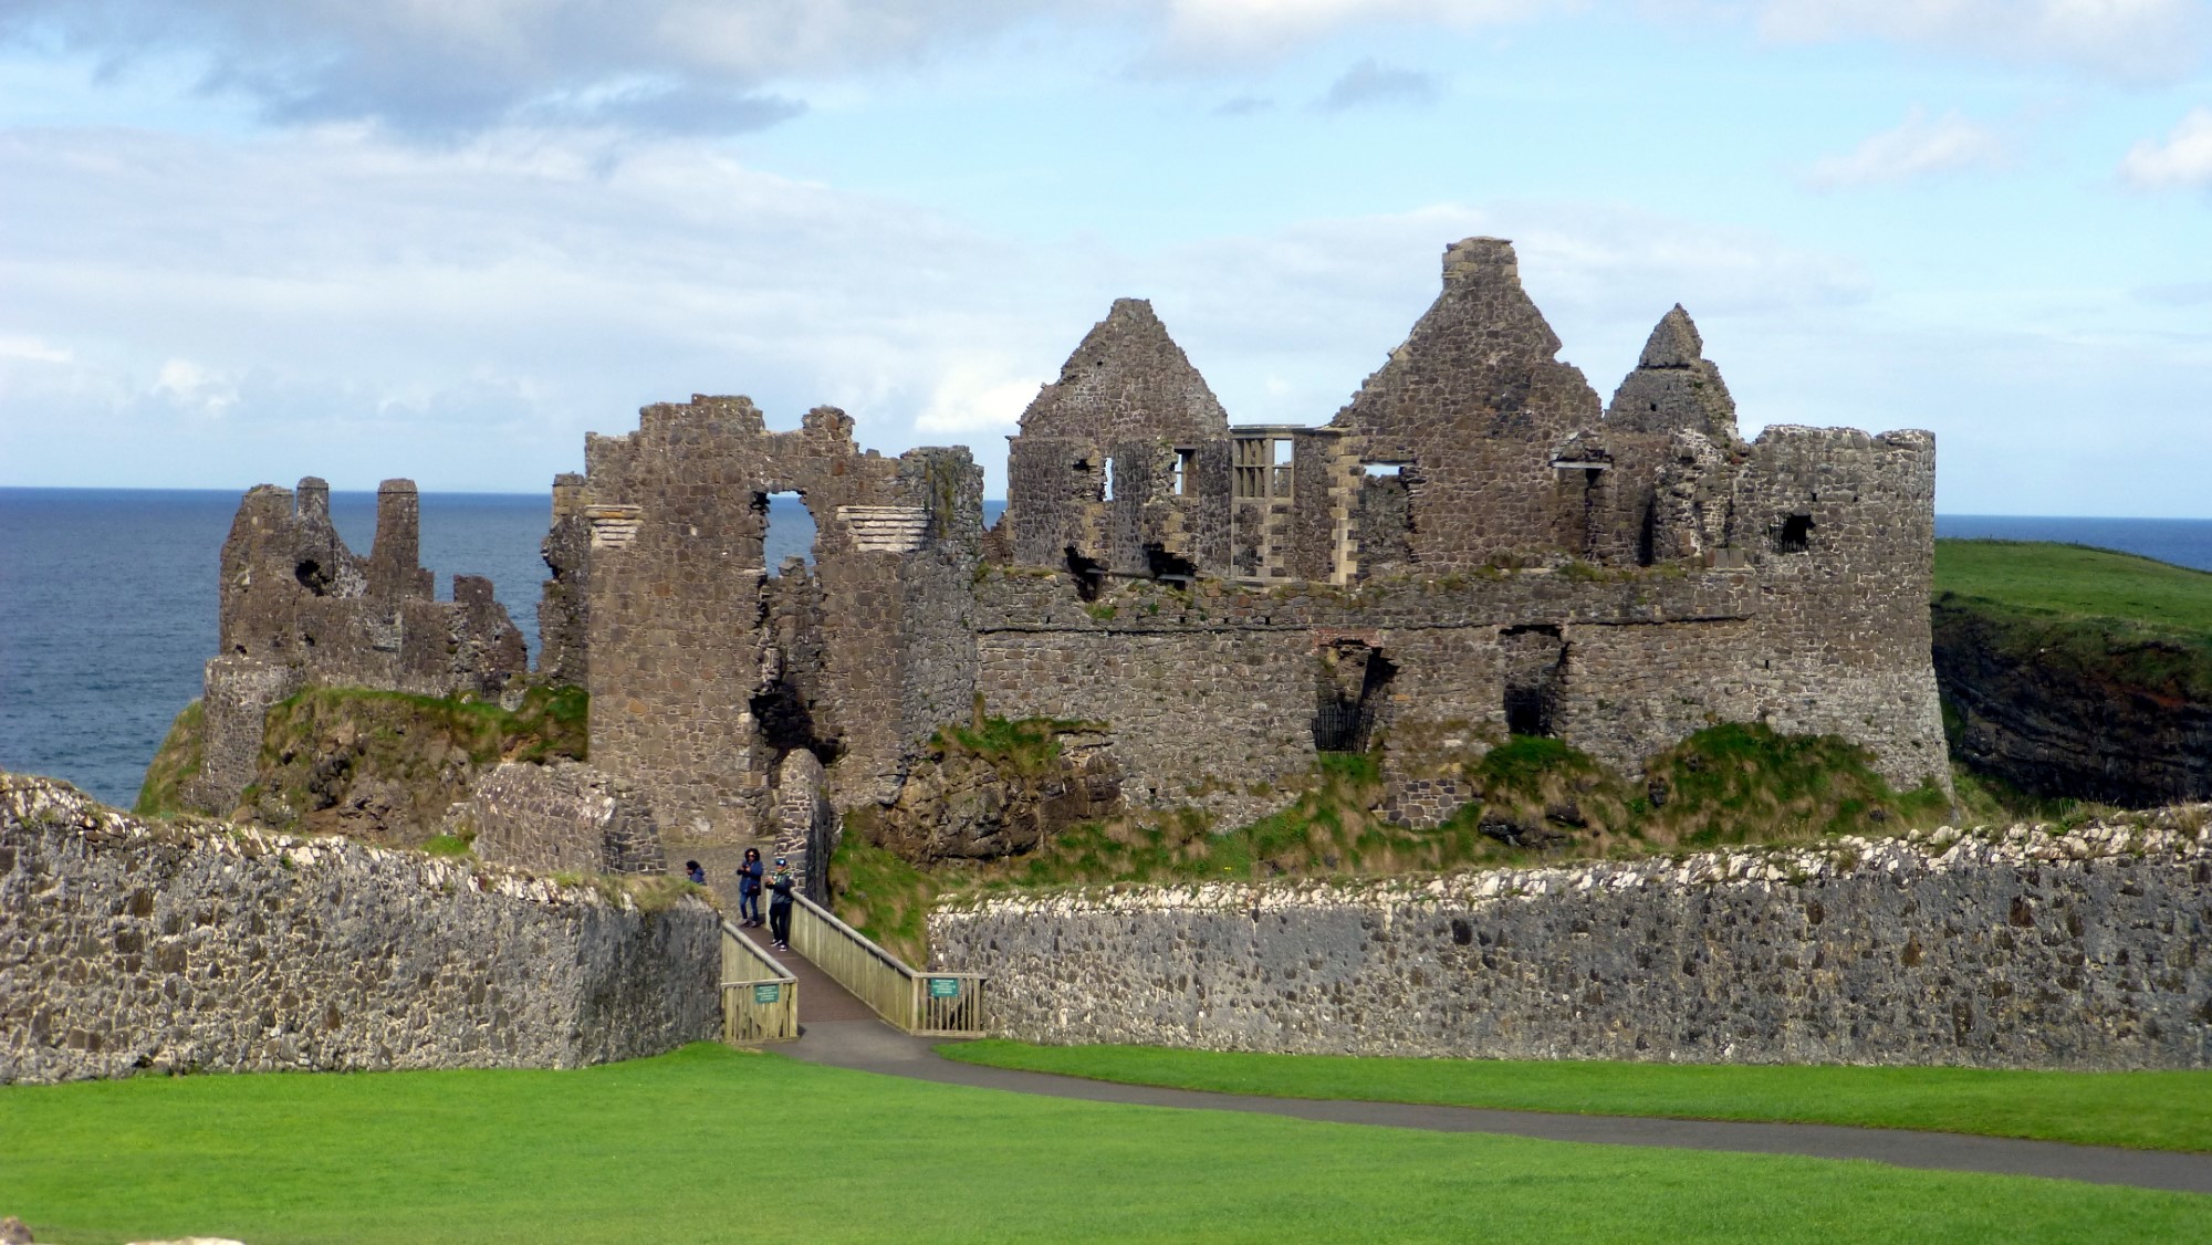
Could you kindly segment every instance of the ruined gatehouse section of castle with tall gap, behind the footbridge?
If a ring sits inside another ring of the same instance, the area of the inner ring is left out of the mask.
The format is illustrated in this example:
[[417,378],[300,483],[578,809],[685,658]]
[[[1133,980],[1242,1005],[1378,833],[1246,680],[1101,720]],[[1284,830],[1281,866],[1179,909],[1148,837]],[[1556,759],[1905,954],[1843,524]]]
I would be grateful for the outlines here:
[[[586,462],[593,763],[688,843],[774,838],[774,776],[801,747],[836,763],[841,805],[889,803],[911,750],[973,699],[958,619],[982,473],[967,451],[860,453],[832,407],[772,433],[750,400],[697,396],[593,436]],[[805,588],[768,586],[774,493],[814,515],[816,566],[792,571]]]

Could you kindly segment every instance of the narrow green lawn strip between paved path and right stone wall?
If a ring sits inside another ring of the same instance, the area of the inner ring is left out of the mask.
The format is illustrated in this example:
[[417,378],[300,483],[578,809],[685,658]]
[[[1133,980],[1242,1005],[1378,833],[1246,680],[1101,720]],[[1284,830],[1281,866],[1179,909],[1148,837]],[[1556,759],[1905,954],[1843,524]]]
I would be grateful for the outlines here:
[[949,1059],[995,1068],[1228,1095],[1856,1123],[2137,1150],[2212,1150],[2212,1073],[1376,1059],[1024,1042],[969,1042],[940,1050]]

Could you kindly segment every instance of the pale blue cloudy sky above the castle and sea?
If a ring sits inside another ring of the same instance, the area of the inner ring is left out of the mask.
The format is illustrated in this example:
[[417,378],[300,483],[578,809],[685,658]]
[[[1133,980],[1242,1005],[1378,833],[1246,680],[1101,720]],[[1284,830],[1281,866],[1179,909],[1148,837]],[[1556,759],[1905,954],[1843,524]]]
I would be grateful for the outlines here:
[[1004,436],[1115,296],[1327,422],[1515,241],[1944,513],[2212,517],[2212,0],[0,0],[0,487]]

